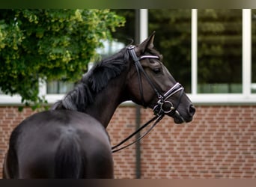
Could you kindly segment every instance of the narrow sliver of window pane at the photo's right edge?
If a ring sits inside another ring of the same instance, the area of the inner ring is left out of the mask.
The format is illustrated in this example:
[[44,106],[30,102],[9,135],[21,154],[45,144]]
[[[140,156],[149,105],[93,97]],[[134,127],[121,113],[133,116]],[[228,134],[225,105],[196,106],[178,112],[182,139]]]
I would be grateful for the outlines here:
[[256,10],[252,10],[252,93],[256,93]]

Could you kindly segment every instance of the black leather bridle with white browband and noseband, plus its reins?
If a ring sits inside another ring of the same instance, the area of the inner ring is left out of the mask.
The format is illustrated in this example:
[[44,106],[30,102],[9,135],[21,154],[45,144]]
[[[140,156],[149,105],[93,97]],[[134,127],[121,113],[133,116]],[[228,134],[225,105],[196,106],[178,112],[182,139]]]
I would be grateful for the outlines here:
[[[144,59],[144,58],[159,59],[159,57],[156,55],[142,55],[141,57],[137,57],[137,55],[135,54],[135,46],[129,46],[128,50],[129,50],[129,55],[132,56],[132,60],[135,63],[136,71],[138,73],[138,83],[139,83],[139,91],[141,94],[142,105],[144,106],[144,108],[146,108],[145,103],[144,103],[144,96],[143,96],[144,94],[143,94],[143,88],[142,88],[142,82],[141,82],[141,73],[143,73],[144,77],[147,79],[147,82],[150,84],[151,88],[153,88],[153,91],[156,93],[156,96],[159,98],[159,100],[156,102],[156,105],[153,107],[153,113],[155,116],[152,119],[148,120],[147,123],[144,123],[143,126],[138,128],[135,132],[133,132],[131,135],[129,135],[127,138],[125,138],[123,141],[121,141],[119,144],[113,146],[112,153],[118,152],[119,150],[123,150],[123,149],[129,147],[130,145],[135,144],[136,142],[140,141],[141,138],[144,138],[144,136],[147,135],[153,129],[153,127],[156,126],[157,123],[159,123],[160,120],[162,120],[162,117],[164,117],[165,114],[169,114],[171,117],[174,117],[174,115],[177,115],[178,117],[180,117],[180,119],[183,120],[183,117],[181,117],[180,113],[177,111],[177,108],[180,105],[181,96],[183,96],[183,93],[184,93],[183,86],[177,82],[173,87],[171,87],[168,91],[166,91],[164,95],[162,95],[162,93],[160,93],[160,91],[153,84],[153,82],[151,81],[149,76],[147,76],[147,73],[144,71],[144,69],[140,63],[140,60]],[[177,105],[174,106],[173,103],[171,101],[167,101],[167,99],[179,91],[180,91],[180,96],[179,96]],[[132,138],[134,135],[136,135],[138,132],[140,132],[142,129],[144,129],[146,126],[148,126],[150,123],[152,123],[153,121],[155,121],[153,123],[153,125],[150,126],[150,128],[147,129],[147,131],[144,132],[144,134],[141,135],[138,139],[136,139],[135,141],[132,141],[132,143],[127,144],[124,147],[118,148],[122,144],[127,142],[130,138]],[[185,121],[185,120],[183,120],[183,121]]]

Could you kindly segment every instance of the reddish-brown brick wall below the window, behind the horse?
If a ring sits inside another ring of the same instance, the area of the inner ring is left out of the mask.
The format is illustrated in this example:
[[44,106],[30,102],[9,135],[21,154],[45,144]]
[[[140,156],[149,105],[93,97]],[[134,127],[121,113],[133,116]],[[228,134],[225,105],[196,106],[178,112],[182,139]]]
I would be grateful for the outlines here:
[[[192,123],[164,117],[141,141],[141,178],[256,178],[256,106],[196,106]],[[11,130],[31,114],[0,107],[0,171]],[[141,108],[141,123],[152,117]],[[135,129],[135,107],[121,106],[108,126],[112,144]],[[114,153],[115,177],[135,178],[135,146]],[[1,172],[0,172],[1,177]]]

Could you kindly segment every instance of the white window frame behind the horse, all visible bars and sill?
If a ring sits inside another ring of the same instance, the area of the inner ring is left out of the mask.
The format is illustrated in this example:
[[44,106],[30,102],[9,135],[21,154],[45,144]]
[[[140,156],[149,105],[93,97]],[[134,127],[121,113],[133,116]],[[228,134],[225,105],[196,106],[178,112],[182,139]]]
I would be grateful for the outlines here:
[[[140,38],[142,41],[148,33],[148,10],[140,10]],[[256,104],[256,93],[252,93],[252,10],[243,9],[243,92],[242,93],[197,93],[198,90],[198,10],[192,9],[192,92],[189,98],[198,105],[236,105]],[[64,97],[64,94],[46,94],[46,83],[40,85],[40,95],[46,96],[49,104]],[[20,96],[0,95],[0,105],[20,105]],[[126,102],[131,103],[131,102]]]

